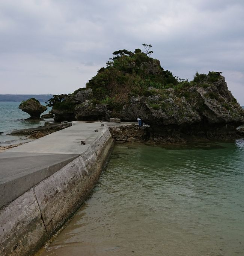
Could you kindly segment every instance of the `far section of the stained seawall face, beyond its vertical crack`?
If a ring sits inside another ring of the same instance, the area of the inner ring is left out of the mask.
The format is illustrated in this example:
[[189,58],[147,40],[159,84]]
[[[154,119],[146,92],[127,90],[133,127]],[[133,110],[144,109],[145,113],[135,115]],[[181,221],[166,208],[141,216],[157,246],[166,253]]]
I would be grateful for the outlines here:
[[108,134],[106,130],[82,155],[34,187],[48,233],[57,230],[89,195],[113,143]]

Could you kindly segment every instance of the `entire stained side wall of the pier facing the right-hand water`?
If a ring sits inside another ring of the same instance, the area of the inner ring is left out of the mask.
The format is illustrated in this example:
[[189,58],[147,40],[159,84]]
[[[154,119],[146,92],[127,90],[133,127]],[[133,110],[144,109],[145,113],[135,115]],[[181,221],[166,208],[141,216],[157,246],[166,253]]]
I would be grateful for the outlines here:
[[111,134],[104,126],[84,152],[2,206],[0,255],[35,253],[90,194],[112,147]]

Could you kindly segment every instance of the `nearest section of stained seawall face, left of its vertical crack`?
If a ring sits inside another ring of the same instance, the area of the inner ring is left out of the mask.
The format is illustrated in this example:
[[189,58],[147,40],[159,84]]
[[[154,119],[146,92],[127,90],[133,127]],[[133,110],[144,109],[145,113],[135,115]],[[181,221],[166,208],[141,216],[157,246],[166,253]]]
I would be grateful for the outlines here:
[[33,189],[0,210],[0,255],[29,255],[48,238]]

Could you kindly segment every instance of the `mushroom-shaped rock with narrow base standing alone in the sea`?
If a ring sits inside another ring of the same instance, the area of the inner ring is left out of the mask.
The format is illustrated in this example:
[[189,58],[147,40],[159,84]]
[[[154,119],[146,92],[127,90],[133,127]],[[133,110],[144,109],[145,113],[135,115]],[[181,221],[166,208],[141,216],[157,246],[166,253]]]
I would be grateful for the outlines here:
[[30,118],[39,119],[40,115],[47,110],[47,108],[40,104],[40,102],[35,98],[27,99],[27,101],[21,102],[19,108],[28,113]]

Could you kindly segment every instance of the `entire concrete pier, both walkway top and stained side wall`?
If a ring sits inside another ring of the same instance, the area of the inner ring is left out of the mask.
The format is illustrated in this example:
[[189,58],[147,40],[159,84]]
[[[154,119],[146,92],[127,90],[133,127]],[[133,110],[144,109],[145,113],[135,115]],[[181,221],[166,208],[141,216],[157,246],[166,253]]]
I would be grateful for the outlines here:
[[75,121],[0,153],[1,256],[33,254],[87,198],[113,146],[101,124]]

